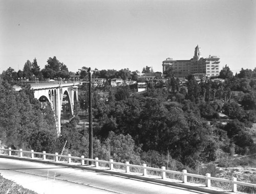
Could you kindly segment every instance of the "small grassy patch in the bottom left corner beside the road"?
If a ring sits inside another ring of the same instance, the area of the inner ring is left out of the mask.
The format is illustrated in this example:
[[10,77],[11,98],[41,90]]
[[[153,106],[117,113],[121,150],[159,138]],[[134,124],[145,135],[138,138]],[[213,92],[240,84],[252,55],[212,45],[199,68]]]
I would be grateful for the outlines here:
[[27,188],[24,188],[18,184],[16,184],[13,181],[7,180],[3,178],[0,174],[0,193],[5,194],[37,194],[37,192],[34,192],[32,190],[29,190]]

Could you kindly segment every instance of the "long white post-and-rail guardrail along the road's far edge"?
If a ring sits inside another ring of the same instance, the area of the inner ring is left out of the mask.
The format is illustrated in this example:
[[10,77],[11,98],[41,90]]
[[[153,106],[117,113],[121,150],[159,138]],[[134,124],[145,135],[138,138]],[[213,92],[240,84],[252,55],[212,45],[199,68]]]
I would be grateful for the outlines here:
[[110,159],[110,161],[105,161],[105,160],[99,160],[98,158],[95,158],[95,159],[84,158],[84,156],[74,157],[74,156],[71,156],[71,154],[68,154],[68,156],[59,155],[58,153],[48,154],[45,151],[44,152],[34,152],[33,150],[31,150],[31,151],[24,151],[22,149],[12,150],[11,148],[9,148],[9,149],[0,149],[0,151],[5,152],[6,154],[4,154],[4,153],[0,154],[0,155],[5,155],[5,156],[12,156],[13,153],[18,153],[19,158],[24,157],[23,153],[29,154],[30,156],[27,157],[27,158],[31,158],[31,159],[36,159],[34,157],[35,154],[36,155],[41,155],[42,158],[38,158],[40,160],[47,160],[46,156],[51,156],[51,157],[54,157],[53,161],[55,161],[55,162],[59,162],[59,158],[66,158],[66,159],[68,159],[69,164],[71,164],[72,159],[80,160],[81,165],[84,165],[84,161],[89,161],[89,162],[93,162],[96,168],[99,167],[99,163],[104,163],[104,164],[109,164],[110,170],[114,169],[114,165],[118,165],[118,166],[123,166],[125,168],[125,173],[127,173],[127,174],[130,173],[130,167],[134,167],[134,168],[142,169],[142,175],[143,176],[147,176],[147,170],[160,172],[162,179],[166,179],[166,173],[173,174],[173,175],[180,175],[182,177],[182,183],[187,183],[187,177],[199,178],[199,179],[204,179],[205,180],[205,186],[206,187],[210,187],[210,185],[211,185],[210,181],[211,180],[212,181],[225,182],[225,183],[230,183],[231,184],[232,192],[237,192],[237,185],[243,185],[243,186],[256,188],[256,184],[240,182],[240,181],[237,181],[237,178],[235,178],[235,177],[232,177],[231,180],[228,180],[228,179],[221,179],[221,178],[211,177],[209,173],[206,173],[205,176],[190,174],[190,173],[187,173],[187,171],[185,169],[182,172],[170,171],[170,170],[165,169],[165,166],[162,166],[161,168],[154,168],[154,167],[148,167],[148,166],[146,166],[146,164],[142,164],[142,165],[130,164],[128,161],[126,161],[125,163],[120,163],[120,162],[114,162],[112,159]]

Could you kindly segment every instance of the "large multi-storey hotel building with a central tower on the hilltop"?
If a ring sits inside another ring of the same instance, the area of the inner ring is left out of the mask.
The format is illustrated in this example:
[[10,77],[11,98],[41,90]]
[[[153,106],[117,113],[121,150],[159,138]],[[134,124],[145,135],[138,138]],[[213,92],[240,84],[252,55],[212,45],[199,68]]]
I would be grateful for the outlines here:
[[167,58],[163,61],[163,73],[170,67],[173,67],[177,77],[187,77],[192,75],[205,75],[206,77],[219,76],[220,72],[220,58],[216,56],[209,56],[203,58],[201,55],[201,48],[195,48],[195,55],[190,60],[173,60]]

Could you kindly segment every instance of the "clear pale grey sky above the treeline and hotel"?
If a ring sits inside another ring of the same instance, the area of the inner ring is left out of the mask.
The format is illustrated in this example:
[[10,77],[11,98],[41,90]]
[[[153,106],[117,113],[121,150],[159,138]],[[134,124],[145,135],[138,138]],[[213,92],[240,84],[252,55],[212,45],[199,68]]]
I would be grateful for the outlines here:
[[221,67],[256,67],[256,1],[0,0],[0,73],[56,56],[76,72],[190,59],[197,44]]

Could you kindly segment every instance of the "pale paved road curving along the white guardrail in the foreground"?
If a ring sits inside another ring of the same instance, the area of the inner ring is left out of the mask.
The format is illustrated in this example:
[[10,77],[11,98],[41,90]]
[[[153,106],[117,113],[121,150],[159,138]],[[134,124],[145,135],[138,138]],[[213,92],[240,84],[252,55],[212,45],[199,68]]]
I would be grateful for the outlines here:
[[65,166],[0,158],[0,174],[38,193],[204,193]]

